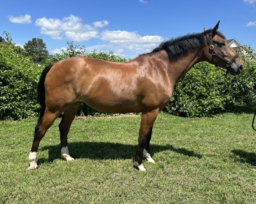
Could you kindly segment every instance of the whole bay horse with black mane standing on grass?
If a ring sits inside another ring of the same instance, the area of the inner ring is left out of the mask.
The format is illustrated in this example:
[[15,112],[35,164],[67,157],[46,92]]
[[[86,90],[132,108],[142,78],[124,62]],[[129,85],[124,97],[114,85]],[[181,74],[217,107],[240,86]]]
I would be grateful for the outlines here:
[[218,25],[219,21],[202,33],[162,42],[130,62],[72,57],[47,66],[38,83],[41,113],[29,153],[29,170],[37,170],[39,143],[62,112],[58,125],[61,156],[67,161],[74,160],[67,147],[67,134],[79,105],[84,102],[105,113],[142,113],[134,166],[145,171],[143,157],[154,163],[149,150],[154,121],[169,103],[177,81],[202,61],[226,68],[232,75],[241,73],[242,59],[218,32]]

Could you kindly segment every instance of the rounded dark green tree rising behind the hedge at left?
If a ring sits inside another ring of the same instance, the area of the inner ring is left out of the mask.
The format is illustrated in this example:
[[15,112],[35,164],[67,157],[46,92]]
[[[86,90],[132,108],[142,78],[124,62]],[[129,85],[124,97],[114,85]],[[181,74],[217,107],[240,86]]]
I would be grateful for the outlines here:
[[33,38],[24,45],[27,56],[31,56],[34,62],[44,62],[47,59],[49,52],[46,44],[41,38]]

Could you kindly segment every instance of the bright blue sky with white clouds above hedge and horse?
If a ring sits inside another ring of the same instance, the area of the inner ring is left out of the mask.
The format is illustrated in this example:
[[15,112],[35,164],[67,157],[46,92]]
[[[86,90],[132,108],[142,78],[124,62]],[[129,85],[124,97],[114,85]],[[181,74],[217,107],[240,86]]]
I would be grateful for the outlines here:
[[0,10],[0,34],[8,31],[20,45],[42,38],[50,54],[74,41],[135,57],[218,20],[227,39],[256,48],[256,0],[8,0]]

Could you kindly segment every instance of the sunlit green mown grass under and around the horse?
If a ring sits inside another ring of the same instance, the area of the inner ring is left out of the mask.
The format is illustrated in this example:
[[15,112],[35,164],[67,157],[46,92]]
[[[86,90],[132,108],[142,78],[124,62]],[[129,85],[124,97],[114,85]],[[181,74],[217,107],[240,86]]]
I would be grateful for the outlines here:
[[36,119],[0,121],[0,203],[256,203],[252,114],[187,119],[160,113],[151,139],[155,164],[133,167],[140,117],[76,118],[61,159],[58,123],[28,171]]

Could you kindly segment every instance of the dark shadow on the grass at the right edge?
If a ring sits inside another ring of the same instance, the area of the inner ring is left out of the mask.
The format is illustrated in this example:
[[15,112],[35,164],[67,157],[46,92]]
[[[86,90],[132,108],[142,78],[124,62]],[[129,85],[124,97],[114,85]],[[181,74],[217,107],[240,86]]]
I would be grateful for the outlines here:
[[250,164],[253,169],[256,168],[256,153],[244,150],[232,150],[231,152],[234,154],[236,161]]

